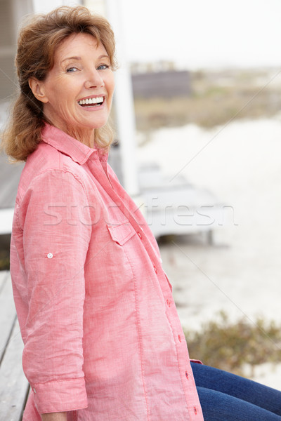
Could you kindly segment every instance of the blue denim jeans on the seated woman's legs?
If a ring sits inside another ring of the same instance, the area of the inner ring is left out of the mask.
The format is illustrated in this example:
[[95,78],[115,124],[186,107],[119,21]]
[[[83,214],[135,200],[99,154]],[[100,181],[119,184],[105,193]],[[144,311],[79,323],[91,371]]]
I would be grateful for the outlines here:
[[204,421],[281,421],[281,392],[191,363]]

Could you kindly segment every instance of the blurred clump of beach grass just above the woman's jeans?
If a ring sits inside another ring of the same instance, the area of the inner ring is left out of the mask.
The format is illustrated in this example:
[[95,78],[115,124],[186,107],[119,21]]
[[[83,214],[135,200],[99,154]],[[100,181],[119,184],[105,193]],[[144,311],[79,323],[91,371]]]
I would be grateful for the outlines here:
[[230,321],[220,312],[216,321],[208,321],[197,332],[185,330],[191,359],[200,359],[207,366],[246,375],[262,363],[280,363],[281,326],[263,319],[246,317]]

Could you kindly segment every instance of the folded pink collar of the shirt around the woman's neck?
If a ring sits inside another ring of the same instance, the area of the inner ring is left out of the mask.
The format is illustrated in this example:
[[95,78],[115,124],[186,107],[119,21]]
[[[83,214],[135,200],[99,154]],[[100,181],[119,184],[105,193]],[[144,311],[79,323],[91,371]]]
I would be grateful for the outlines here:
[[70,156],[74,162],[80,165],[83,165],[92,154],[98,156],[100,160],[105,161],[107,159],[107,154],[102,149],[88,147],[61,131],[60,128],[51,126],[48,123],[45,124],[42,130],[41,138],[43,142]]

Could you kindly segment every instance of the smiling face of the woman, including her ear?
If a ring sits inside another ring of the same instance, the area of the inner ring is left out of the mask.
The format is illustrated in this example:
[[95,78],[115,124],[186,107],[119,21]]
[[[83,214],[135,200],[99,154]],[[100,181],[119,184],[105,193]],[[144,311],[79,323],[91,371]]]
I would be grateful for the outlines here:
[[[83,133],[105,125],[114,91],[110,58],[90,34],[73,34],[54,55],[53,68],[37,81],[44,115],[66,133]],[[34,89],[32,89],[34,92]]]

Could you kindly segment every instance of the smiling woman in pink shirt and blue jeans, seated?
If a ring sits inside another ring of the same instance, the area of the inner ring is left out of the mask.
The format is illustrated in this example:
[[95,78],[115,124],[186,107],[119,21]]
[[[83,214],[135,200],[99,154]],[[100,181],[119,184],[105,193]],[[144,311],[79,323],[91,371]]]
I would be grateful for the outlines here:
[[11,241],[32,387],[23,419],[202,421],[203,408],[205,420],[281,420],[280,392],[192,363],[200,406],[157,243],[107,166],[108,22],[83,7],[36,17],[20,32],[16,67],[4,145],[26,161]]

